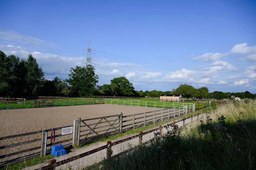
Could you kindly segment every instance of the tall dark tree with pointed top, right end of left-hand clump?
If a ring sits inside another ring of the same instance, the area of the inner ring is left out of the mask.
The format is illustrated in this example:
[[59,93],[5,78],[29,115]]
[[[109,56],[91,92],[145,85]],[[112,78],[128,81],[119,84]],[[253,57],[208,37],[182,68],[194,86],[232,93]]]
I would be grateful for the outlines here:
[[43,86],[44,73],[32,54],[28,54],[27,60],[21,60],[20,68],[21,72],[19,77],[23,84],[22,91],[24,95],[38,95]]

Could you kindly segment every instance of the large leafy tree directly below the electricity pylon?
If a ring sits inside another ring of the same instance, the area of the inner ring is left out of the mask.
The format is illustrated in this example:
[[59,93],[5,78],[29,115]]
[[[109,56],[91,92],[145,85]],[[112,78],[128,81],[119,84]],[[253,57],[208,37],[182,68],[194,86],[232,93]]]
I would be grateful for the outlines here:
[[87,65],[86,67],[76,66],[71,68],[69,79],[66,82],[70,84],[71,91],[75,95],[90,95],[96,92],[96,83],[98,83],[98,75],[94,72],[94,67]]

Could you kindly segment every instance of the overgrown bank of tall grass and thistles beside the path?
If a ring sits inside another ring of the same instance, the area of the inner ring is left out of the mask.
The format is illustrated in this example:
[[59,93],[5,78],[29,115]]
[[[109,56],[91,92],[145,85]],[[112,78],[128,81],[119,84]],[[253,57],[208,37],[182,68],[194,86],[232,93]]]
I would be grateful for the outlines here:
[[85,169],[256,169],[255,100],[205,112],[201,121]]

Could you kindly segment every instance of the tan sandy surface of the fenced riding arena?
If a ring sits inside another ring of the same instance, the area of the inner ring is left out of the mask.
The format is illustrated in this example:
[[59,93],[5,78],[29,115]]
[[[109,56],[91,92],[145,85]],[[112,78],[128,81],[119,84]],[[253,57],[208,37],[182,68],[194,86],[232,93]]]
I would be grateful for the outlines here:
[[[2,128],[0,132],[0,137],[27,133],[32,131],[41,131],[44,129],[57,128],[61,126],[69,126],[69,125],[73,126],[73,121],[78,118],[81,118],[83,120],[83,119],[89,119],[89,118],[95,118],[95,117],[116,115],[116,114],[120,114],[121,112],[125,116],[130,114],[155,111],[159,109],[160,108],[113,105],[113,104],[95,104],[95,105],[76,105],[76,106],[66,106],[66,107],[0,110],[0,117],[1,117],[0,123]],[[97,121],[95,120],[90,123],[94,123],[94,122],[97,122]],[[59,134],[59,131],[61,133],[61,130],[58,130],[58,132],[56,131],[56,134]],[[49,136],[50,136],[50,132],[48,133],[48,137]],[[26,137],[0,140],[0,146],[38,139],[41,137],[42,137],[42,134],[40,133],[40,134],[30,135]],[[72,134],[59,137],[58,140],[63,140],[62,138],[63,139],[72,138]],[[48,139],[47,143],[50,143],[50,139]],[[72,141],[70,141],[69,143],[72,143]],[[41,146],[41,141],[26,144],[26,145],[21,145],[17,147],[2,149],[0,150],[0,155],[5,155],[12,152],[17,152],[20,150],[37,147],[37,146]],[[38,151],[40,150],[37,150],[37,152]],[[24,155],[32,152],[26,152],[24,153]],[[22,154],[19,154],[19,156],[21,155]],[[15,157],[18,157],[18,155],[0,159],[0,164],[1,162],[4,162],[8,159],[13,159]]]

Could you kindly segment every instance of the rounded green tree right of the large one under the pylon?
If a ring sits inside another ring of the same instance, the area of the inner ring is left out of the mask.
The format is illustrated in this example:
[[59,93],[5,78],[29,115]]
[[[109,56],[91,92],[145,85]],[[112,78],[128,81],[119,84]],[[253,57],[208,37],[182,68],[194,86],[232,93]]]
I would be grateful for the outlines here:
[[133,84],[125,77],[110,80],[110,89],[115,96],[133,96],[135,94]]

